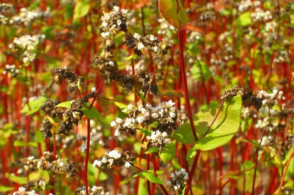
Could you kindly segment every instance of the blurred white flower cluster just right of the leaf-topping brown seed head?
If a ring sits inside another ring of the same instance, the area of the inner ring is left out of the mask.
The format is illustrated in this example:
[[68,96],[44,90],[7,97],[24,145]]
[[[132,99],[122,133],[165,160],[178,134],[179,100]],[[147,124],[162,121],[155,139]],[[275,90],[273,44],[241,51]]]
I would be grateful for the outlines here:
[[262,103],[266,106],[272,107],[278,103],[278,100],[284,100],[283,91],[278,89],[273,89],[272,93],[267,93],[264,90],[260,90],[257,94],[262,100]]

